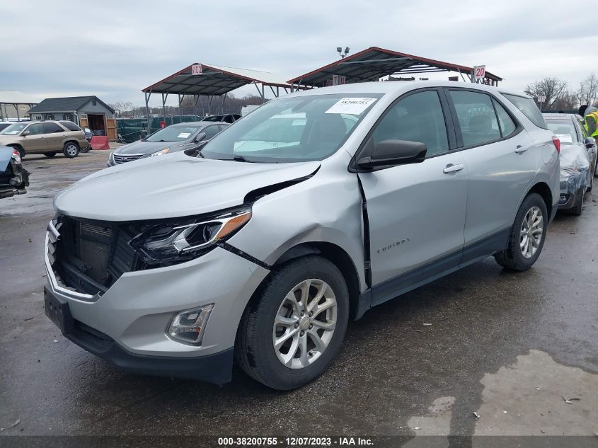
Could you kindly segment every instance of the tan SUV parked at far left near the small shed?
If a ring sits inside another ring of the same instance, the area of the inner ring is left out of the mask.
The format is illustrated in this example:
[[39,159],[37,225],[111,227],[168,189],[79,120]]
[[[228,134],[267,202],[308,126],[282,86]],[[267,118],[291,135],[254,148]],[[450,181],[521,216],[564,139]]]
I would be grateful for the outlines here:
[[79,155],[79,149],[87,145],[85,134],[74,125],[77,130],[70,130],[57,121],[16,122],[0,131],[0,145],[13,147],[21,158],[25,154],[45,154],[54,157],[62,152],[65,157],[72,159]]

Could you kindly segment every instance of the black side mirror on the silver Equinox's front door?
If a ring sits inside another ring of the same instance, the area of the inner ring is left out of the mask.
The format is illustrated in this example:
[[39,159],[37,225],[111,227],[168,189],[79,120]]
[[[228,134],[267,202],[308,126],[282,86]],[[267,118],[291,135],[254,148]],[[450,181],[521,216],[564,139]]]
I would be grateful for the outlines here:
[[421,163],[425,160],[427,148],[421,142],[410,140],[383,140],[374,145],[372,154],[357,161],[357,166],[372,169],[378,166],[396,166],[406,163]]

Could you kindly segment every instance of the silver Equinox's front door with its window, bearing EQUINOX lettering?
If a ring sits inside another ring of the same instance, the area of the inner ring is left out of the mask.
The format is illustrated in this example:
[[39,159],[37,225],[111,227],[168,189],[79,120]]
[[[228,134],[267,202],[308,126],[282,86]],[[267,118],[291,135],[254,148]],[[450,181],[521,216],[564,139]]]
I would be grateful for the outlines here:
[[[372,304],[456,270],[464,245],[467,169],[441,91],[398,100],[376,125],[373,144],[422,142],[422,163],[360,173],[369,217]],[[451,142],[451,144],[449,144]]]

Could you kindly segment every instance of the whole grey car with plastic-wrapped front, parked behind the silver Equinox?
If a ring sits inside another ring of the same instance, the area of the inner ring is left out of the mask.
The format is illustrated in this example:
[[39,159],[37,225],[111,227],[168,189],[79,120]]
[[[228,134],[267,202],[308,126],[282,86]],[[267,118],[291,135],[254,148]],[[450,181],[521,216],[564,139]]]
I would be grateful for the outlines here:
[[545,113],[544,119],[560,141],[560,197],[558,208],[582,214],[586,191],[592,190],[598,148],[587,137],[580,117],[574,114]]

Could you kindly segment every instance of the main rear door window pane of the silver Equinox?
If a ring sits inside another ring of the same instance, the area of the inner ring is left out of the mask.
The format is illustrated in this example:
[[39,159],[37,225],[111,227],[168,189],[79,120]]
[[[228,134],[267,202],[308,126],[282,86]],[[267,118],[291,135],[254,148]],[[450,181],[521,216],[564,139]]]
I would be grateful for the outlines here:
[[464,147],[473,147],[500,139],[498,120],[492,100],[485,93],[452,90]]

